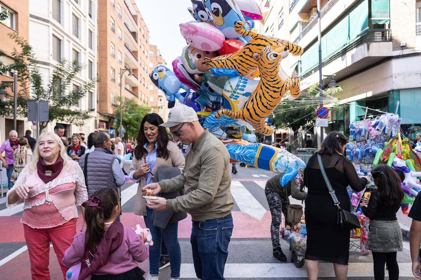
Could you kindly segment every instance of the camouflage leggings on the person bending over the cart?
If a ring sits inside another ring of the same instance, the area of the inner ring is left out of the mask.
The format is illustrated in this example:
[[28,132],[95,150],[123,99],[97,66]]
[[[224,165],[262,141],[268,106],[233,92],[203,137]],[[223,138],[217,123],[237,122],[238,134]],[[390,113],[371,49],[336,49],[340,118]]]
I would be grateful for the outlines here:
[[[272,238],[273,249],[279,248],[279,228],[282,221],[282,213],[284,218],[287,216],[287,207],[289,203],[282,198],[276,191],[272,191],[268,186],[265,186],[264,193],[266,195],[267,203],[269,204],[270,214],[272,215],[272,223],[270,224],[270,235]],[[282,212],[281,212],[282,211]],[[285,225],[287,225],[285,221]]]

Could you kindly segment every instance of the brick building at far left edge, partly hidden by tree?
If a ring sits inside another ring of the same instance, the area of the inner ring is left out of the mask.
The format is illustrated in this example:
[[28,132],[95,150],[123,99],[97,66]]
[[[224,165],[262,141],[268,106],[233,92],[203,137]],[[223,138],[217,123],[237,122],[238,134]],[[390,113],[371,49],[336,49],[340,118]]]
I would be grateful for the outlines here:
[[[28,40],[28,0],[12,1],[12,0],[1,0],[0,11],[7,11],[8,18],[5,21],[0,21],[0,34],[1,35],[1,46],[6,56],[0,57],[5,65],[13,64],[12,59],[13,48],[18,48],[15,41],[8,37],[8,33],[17,33],[20,37]],[[0,81],[13,82],[13,72],[0,73]],[[20,86],[17,85],[17,92],[19,92]],[[13,98],[13,91],[11,88],[6,88],[7,96],[5,98]],[[9,138],[9,132],[13,129],[13,116],[12,118],[0,117],[0,141],[3,142]],[[18,116],[16,128],[19,136],[25,135],[25,130],[31,128],[31,123],[20,118]]]

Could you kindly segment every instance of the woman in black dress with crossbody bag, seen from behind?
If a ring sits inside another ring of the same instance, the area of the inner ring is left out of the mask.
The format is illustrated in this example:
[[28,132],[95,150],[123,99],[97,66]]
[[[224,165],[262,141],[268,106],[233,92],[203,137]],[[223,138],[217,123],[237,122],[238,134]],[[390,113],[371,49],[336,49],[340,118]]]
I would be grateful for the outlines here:
[[354,191],[362,191],[370,179],[367,176],[358,178],[354,166],[344,157],[347,142],[344,134],[330,132],[323,140],[321,149],[310,157],[304,170],[304,184],[308,188],[304,213],[307,227],[305,259],[309,280],[317,280],[320,260],[333,263],[336,280],[345,280],[348,274],[350,230],[340,228],[336,223],[338,207],[333,203],[317,161],[319,153],[341,208],[349,211],[346,187],[349,185]]

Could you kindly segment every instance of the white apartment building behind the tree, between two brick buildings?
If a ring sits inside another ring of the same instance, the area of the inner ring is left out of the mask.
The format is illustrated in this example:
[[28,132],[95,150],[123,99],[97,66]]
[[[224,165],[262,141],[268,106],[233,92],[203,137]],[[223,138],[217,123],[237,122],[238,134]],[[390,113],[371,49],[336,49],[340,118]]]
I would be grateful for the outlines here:
[[[21,1],[15,1],[20,3]],[[35,52],[37,67],[45,86],[52,76],[58,61],[77,59],[84,65],[72,81],[72,88],[83,86],[96,77],[97,8],[94,0],[29,0],[29,44]],[[96,88],[75,105],[75,109],[96,109]],[[61,123],[65,136],[72,133],[93,132],[96,111],[85,120],[85,125]],[[53,120],[47,127],[53,131],[58,122]]]

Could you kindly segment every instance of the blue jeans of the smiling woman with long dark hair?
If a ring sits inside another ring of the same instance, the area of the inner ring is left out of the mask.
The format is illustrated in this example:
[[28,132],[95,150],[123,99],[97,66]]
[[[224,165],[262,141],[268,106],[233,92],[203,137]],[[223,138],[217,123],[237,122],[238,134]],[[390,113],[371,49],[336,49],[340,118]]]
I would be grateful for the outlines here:
[[168,249],[171,263],[171,278],[180,277],[181,267],[181,249],[178,239],[178,222],[169,222],[166,228],[158,228],[150,220],[152,209],[147,208],[147,216],[144,216],[145,225],[152,234],[153,246],[149,246],[149,273],[151,276],[157,276],[159,273],[159,261],[161,257],[161,241],[164,238],[165,246]]

